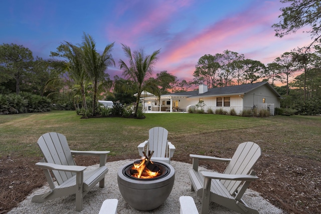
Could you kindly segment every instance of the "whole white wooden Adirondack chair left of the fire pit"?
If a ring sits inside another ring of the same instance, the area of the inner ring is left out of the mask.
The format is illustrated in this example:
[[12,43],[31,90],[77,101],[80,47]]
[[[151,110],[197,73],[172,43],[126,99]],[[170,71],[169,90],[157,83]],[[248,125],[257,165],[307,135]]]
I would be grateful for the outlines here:
[[[44,194],[35,195],[32,201],[44,202],[76,194],[76,210],[81,211],[84,195],[98,182],[99,187],[104,187],[104,177],[108,172],[105,163],[109,151],[70,150],[66,137],[56,132],[42,135],[38,139],[38,145],[44,154],[44,160],[36,165],[43,169],[51,190]],[[73,154],[99,156],[100,167],[85,171],[86,166],[76,166]],[[52,171],[58,185],[55,185],[50,171]]]

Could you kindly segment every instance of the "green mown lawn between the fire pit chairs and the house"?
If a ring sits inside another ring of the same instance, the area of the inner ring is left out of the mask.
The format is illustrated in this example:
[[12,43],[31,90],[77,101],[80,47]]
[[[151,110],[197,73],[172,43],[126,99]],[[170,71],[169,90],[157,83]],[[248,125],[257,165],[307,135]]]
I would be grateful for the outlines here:
[[[175,142],[180,135],[213,130],[232,130],[262,125],[261,119],[205,114],[146,114],[145,119],[80,119],[74,111],[52,111],[0,116],[0,157],[23,154],[40,156],[36,145],[46,132],[63,133],[72,149],[110,150],[111,155],[132,155],[138,143],[147,139],[148,130],[162,126]],[[273,124],[265,121],[264,125]]]

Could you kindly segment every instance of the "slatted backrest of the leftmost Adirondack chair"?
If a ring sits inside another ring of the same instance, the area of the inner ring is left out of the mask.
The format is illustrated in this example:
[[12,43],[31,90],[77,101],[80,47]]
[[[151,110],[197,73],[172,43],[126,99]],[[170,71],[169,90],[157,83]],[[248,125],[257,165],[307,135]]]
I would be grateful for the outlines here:
[[[56,132],[46,133],[38,139],[38,145],[48,163],[76,165],[64,135]],[[76,174],[74,172],[52,171],[59,185]]]

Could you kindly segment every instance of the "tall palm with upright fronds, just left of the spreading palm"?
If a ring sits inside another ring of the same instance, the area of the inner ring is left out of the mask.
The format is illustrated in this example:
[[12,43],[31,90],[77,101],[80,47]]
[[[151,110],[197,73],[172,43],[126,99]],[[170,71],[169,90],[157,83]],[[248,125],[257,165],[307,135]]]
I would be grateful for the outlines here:
[[105,83],[106,69],[108,66],[115,66],[115,61],[110,54],[114,43],[105,47],[103,53],[100,55],[96,51],[96,43],[90,35],[83,35],[82,52],[83,52],[83,66],[86,74],[93,84],[93,100],[92,100],[92,114],[96,113],[96,104],[98,102],[99,87]]

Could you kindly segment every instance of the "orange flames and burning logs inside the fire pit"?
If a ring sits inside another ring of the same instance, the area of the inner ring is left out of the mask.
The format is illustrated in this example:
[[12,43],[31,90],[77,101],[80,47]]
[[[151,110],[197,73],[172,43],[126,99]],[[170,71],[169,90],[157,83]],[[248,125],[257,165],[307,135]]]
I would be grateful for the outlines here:
[[149,161],[146,166],[146,161],[146,158],[134,161],[130,169],[131,176],[146,179],[154,178],[161,174],[161,170],[157,166],[154,166],[153,162]]

